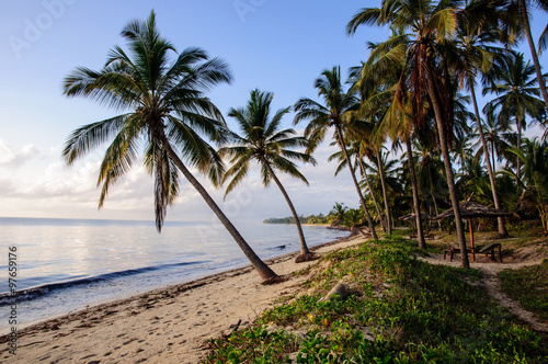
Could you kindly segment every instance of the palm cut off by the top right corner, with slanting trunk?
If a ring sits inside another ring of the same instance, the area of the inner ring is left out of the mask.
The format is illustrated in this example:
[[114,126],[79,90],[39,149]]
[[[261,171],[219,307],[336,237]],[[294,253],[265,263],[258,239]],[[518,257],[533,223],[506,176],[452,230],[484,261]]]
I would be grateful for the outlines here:
[[[540,93],[544,99],[544,107],[548,111],[548,92],[546,90],[546,76],[543,76],[540,68],[540,62],[538,61],[538,54],[535,47],[535,42],[533,39],[533,34],[530,33],[529,16],[533,5],[548,12],[548,0],[510,0],[505,5],[505,16],[503,18],[506,32],[514,33],[514,36],[522,38],[525,34],[527,43],[530,49],[530,57],[533,59],[533,65],[536,73],[536,80]],[[548,27],[547,27],[548,29]],[[540,36],[540,48],[545,46],[546,42],[546,30]]]

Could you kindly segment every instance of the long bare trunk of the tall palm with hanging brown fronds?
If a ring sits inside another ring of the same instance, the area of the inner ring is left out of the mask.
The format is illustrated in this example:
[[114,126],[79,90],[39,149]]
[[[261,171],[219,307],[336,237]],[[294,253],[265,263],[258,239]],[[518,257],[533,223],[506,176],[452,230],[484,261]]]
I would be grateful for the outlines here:
[[432,107],[434,109],[434,114],[435,114],[435,118],[436,118],[437,135],[439,138],[439,147],[442,149],[442,157],[444,159],[445,173],[447,175],[447,186],[449,189],[450,203],[453,206],[453,212],[455,214],[455,226],[456,226],[456,230],[457,230],[457,238],[458,238],[458,243],[459,243],[460,252],[461,252],[461,257],[463,257],[463,268],[468,269],[468,268],[470,268],[470,262],[468,261],[468,253],[466,251],[466,237],[465,237],[465,231],[463,229],[463,220],[460,218],[460,209],[458,207],[457,191],[455,187],[453,168],[450,166],[449,149],[447,146],[447,136],[446,136],[445,125],[443,122],[444,116],[443,116],[436,86],[434,83],[434,72],[432,70],[432,67],[426,66],[426,72],[427,72],[427,82],[429,82],[427,91],[429,91],[430,100],[432,102]]

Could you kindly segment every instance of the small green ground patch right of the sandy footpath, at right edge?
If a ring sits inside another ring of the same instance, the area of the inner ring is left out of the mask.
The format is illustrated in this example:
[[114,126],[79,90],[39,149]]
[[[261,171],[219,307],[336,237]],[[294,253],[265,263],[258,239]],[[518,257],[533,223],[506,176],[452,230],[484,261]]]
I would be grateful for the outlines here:
[[502,289],[507,295],[548,322],[548,261],[520,270],[503,271],[501,282]]

